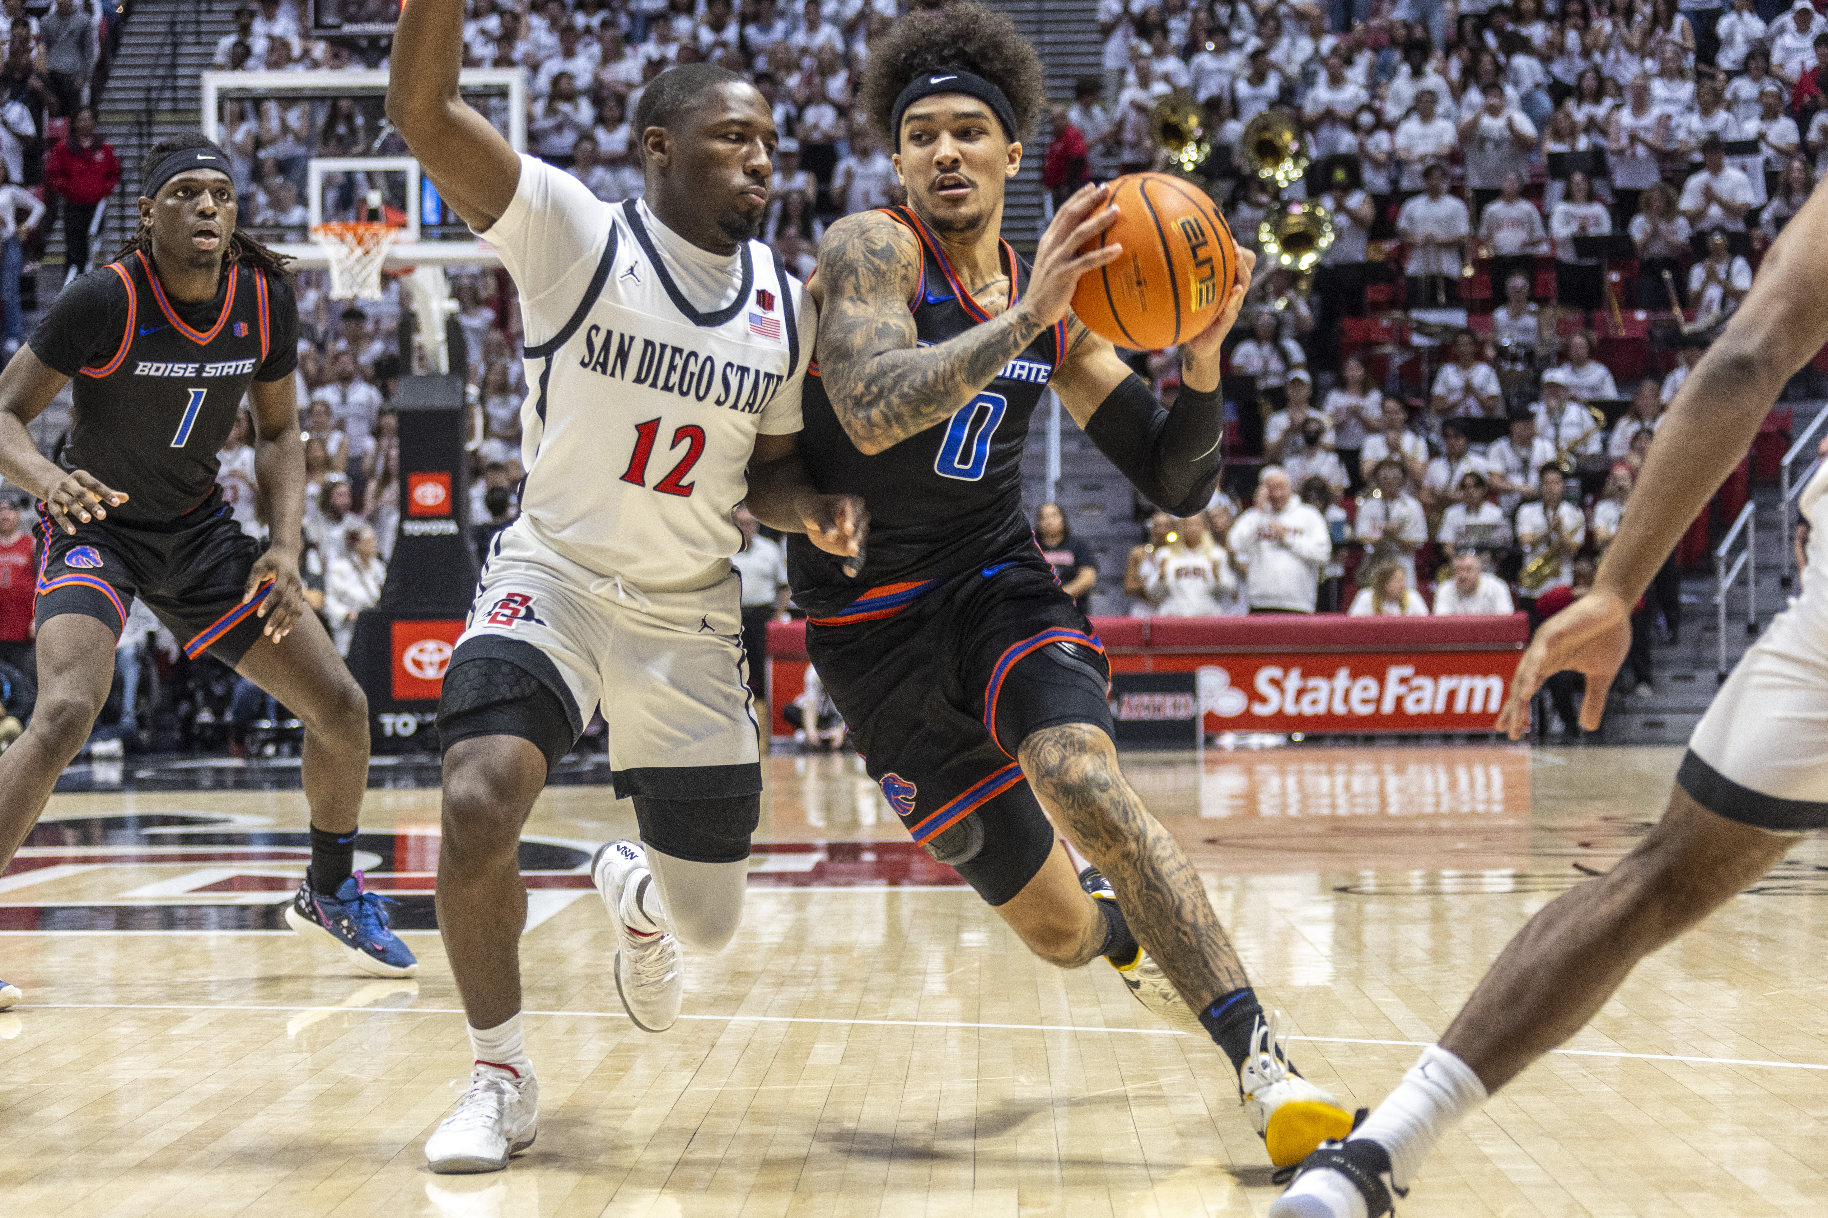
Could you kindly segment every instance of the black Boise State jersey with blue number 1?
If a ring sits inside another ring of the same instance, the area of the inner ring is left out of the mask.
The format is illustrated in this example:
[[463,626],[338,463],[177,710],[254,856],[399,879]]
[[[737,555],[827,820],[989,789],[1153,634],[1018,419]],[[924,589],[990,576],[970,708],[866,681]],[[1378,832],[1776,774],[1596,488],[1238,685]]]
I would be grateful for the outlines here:
[[298,305],[283,278],[243,265],[216,299],[174,301],[135,250],[66,287],[31,349],[71,378],[64,469],[128,495],[110,520],[157,528],[210,497],[247,387],[298,367]]

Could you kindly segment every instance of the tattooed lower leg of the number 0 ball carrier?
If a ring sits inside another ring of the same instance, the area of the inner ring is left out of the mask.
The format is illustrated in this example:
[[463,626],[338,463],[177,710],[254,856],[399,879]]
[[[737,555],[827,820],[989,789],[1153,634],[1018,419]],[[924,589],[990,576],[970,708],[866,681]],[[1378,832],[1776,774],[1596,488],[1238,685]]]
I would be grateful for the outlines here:
[[1022,741],[1018,760],[1042,807],[1117,889],[1137,942],[1190,1008],[1250,984],[1199,873],[1124,782],[1110,736],[1089,723],[1044,727]]

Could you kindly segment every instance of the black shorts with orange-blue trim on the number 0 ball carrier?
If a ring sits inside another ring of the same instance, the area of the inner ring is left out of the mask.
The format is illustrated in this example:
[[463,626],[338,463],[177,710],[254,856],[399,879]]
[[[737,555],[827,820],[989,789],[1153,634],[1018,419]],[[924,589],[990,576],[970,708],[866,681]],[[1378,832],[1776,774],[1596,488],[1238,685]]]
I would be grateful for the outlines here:
[[1038,553],[852,610],[808,623],[806,652],[870,778],[916,842],[1007,902],[1055,845],[1016,752],[1044,727],[1111,732],[1104,646]]

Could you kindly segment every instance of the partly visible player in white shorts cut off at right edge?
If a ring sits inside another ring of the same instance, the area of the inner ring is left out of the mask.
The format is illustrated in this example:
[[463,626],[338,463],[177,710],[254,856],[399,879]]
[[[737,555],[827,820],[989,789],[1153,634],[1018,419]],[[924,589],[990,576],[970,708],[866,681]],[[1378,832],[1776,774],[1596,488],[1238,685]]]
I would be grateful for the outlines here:
[[[1823,276],[1828,194],[1819,188],[1669,407],[1592,592],[1550,617],[1523,654],[1499,714],[1512,740],[1528,729],[1537,688],[1561,670],[1587,677],[1581,727],[1600,727],[1631,646],[1632,606],[1751,447],[1784,383],[1828,343]],[[1802,833],[1828,827],[1828,466],[1804,488],[1802,517],[1802,593],[1695,727],[1662,822],[1605,877],[1530,919],[1397,1090],[1344,1143],[1302,1163],[1270,1205],[1274,1218],[1391,1213],[1428,1150],[1579,1032],[1638,961],[1755,884]]]

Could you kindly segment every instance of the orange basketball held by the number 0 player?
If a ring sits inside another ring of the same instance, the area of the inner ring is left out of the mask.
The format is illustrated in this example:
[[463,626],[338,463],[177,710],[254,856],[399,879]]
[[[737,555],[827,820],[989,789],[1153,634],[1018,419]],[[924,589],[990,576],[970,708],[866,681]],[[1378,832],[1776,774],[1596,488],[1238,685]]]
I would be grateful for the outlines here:
[[1168,173],[1126,173],[1111,183],[1111,206],[1117,223],[1084,248],[1124,252],[1080,276],[1073,312],[1086,329],[1119,347],[1161,351],[1212,325],[1238,279],[1238,245],[1212,197]]

